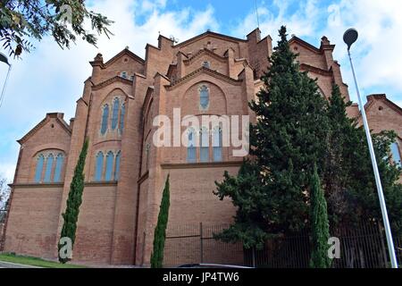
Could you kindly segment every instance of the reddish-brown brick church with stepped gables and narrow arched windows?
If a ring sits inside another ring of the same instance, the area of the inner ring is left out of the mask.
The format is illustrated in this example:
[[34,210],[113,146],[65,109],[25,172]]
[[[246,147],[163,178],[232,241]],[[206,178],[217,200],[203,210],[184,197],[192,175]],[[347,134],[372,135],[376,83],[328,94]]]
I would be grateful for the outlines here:
[[[229,200],[213,194],[224,171],[239,170],[236,147],[222,145],[221,131],[199,136],[207,142],[156,146],[155,117],[174,122],[174,110],[188,115],[249,115],[247,102],[263,86],[272,38],[255,29],[247,39],[206,31],[179,44],[159,36],[146,57],[124,49],[105,62],[90,62],[75,117],[46,114],[22,139],[2,248],[5,252],[56,258],[57,240],[71,179],[84,139],[89,140],[85,189],[80,206],[73,261],[107,265],[149,265],[163,185],[170,174],[170,225],[230,223]],[[337,83],[346,99],[335,48],[323,37],[316,47],[292,37],[302,71],[317,79],[323,97]],[[374,131],[396,130],[393,146],[400,158],[402,109],[385,95],[368,97],[365,106]],[[357,105],[348,113],[359,117]],[[361,119],[360,119],[361,120]],[[186,128],[180,126],[180,132]],[[214,144],[215,142],[215,144]]]

